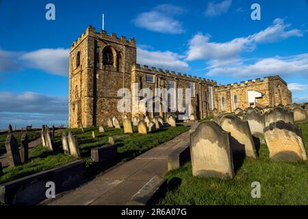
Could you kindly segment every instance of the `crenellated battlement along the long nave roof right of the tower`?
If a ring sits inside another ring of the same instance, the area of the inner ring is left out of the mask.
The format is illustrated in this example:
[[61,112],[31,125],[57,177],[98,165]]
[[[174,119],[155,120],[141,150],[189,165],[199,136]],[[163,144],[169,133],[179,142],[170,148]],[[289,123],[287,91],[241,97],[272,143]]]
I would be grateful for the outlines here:
[[186,74],[182,74],[182,73],[175,73],[175,71],[170,71],[168,69],[162,70],[162,68],[158,68],[158,70],[155,67],[151,67],[149,68],[149,66],[140,66],[140,64],[136,64],[135,66],[133,66],[133,70],[136,71],[141,71],[143,73],[148,73],[148,74],[152,74],[152,75],[162,75],[162,76],[168,76],[168,77],[176,77],[177,79],[184,79],[184,80],[188,80],[188,81],[194,81],[196,83],[208,83],[212,86],[217,85],[216,81],[213,80],[209,80],[209,79],[205,79],[205,78],[201,78],[201,77],[196,77],[196,76],[192,76],[192,75],[186,75]]

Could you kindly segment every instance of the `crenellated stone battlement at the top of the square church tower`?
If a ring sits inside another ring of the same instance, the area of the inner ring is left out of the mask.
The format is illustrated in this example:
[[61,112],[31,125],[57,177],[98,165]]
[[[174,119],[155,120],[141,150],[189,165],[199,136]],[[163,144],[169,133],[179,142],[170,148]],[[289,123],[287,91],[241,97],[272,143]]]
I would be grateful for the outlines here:
[[105,30],[101,30],[101,32],[98,33],[96,29],[90,25],[87,27],[86,31],[84,31],[84,33],[81,34],[81,36],[79,36],[79,38],[73,42],[73,44],[70,46],[70,50],[73,50],[82,40],[84,40],[88,36],[136,48],[135,38],[132,37],[129,40],[127,40],[125,36],[121,36],[120,38],[118,38],[118,36],[116,36],[116,34],[114,33],[107,35],[107,32]]

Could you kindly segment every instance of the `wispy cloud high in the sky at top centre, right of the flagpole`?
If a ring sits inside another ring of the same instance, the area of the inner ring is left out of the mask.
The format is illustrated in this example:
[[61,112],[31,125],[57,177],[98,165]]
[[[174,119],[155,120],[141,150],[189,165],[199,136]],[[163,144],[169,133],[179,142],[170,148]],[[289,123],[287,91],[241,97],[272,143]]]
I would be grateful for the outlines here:
[[133,23],[137,27],[164,34],[182,34],[185,32],[181,22],[175,15],[183,13],[183,8],[174,5],[158,5],[150,12],[139,14]]

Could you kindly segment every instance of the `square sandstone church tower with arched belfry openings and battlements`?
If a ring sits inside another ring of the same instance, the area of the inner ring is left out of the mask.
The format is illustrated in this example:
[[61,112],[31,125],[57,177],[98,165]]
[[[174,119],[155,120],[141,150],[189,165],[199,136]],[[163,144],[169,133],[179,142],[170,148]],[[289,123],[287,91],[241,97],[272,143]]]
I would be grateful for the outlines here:
[[116,34],[97,33],[89,26],[70,47],[69,127],[102,125],[107,118],[131,115],[118,112],[120,88],[131,90],[136,65],[136,41]]

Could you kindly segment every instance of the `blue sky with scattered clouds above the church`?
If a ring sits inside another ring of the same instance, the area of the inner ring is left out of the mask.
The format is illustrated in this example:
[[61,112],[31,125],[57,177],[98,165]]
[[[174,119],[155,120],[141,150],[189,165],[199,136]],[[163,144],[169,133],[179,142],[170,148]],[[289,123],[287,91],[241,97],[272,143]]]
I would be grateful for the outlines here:
[[140,64],[222,84],[281,75],[308,102],[306,0],[0,0],[0,129],[67,124],[68,48],[88,25],[100,31],[103,12],[108,34],[136,38]]

